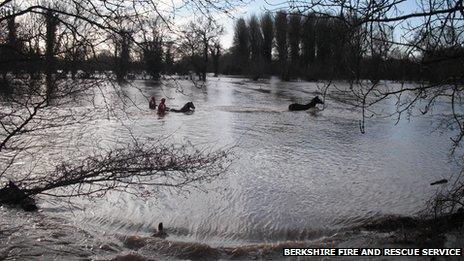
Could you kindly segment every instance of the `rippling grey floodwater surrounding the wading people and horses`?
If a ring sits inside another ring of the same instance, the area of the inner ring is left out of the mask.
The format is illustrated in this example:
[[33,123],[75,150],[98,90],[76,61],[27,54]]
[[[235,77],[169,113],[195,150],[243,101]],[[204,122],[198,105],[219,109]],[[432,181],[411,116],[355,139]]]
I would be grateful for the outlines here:
[[[200,88],[187,80],[133,84],[122,88],[131,98],[124,124],[102,119],[86,128],[100,137],[86,146],[129,139],[130,128],[146,140],[233,147],[228,171],[188,193],[160,189],[150,198],[110,193],[72,202],[42,196],[39,213],[2,207],[0,259],[112,259],[127,253],[156,260],[279,259],[280,244],[382,246],[382,234],[353,228],[417,214],[437,190],[429,184],[458,170],[449,158],[453,133],[435,124],[445,103],[433,115],[397,124],[394,118],[367,119],[363,134],[360,111],[339,102],[344,97],[337,93],[329,93],[320,110],[287,110],[320,95],[322,84],[226,77]],[[192,101],[196,110],[159,117],[148,110],[152,95],[167,97],[169,107]],[[386,100],[376,109],[388,114],[394,103]],[[147,241],[159,222],[169,237]],[[134,238],[143,244],[134,247]]]

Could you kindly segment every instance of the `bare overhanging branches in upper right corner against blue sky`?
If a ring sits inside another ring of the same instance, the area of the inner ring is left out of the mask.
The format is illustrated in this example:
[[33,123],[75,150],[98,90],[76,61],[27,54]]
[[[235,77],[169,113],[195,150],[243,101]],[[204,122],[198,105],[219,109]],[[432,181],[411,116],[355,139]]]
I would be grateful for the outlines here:
[[[289,2],[289,4],[291,8],[298,9],[300,12],[310,10],[320,17],[339,20],[345,24],[345,31],[348,30],[351,36],[357,32],[356,41],[363,43],[363,48],[366,48],[365,58],[372,61],[380,62],[390,57],[390,51],[395,47],[398,47],[409,59],[419,62],[423,69],[443,60],[458,62],[463,59],[459,52],[464,43],[462,1],[421,2],[418,3],[415,11],[406,14],[400,11],[402,2],[398,0],[380,3],[324,0],[307,3]],[[416,21],[409,23],[412,18]],[[393,31],[399,28],[402,28],[402,39],[397,40],[393,38]],[[327,31],[324,28],[319,30]],[[318,34],[318,38],[320,37]],[[320,55],[323,56],[321,58],[326,56],[325,51],[320,48],[323,46],[322,43],[318,44],[318,58]],[[426,55],[435,50],[450,47],[454,48],[453,55],[443,55],[439,59],[432,59],[433,61]],[[327,53],[330,54],[329,51]],[[347,64],[352,65],[352,63]],[[380,64],[374,67],[378,71]],[[423,101],[421,97],[427,97],[425,103],[427,105],[422,110],[426,113],[439,97],[446,97],[452,103],[458,103],[462,87],[462,73],[460,70],[454,71],[453,75],[443,74],[438,77],[438,81],[434,82],[424,78],[416,87],[403,85],[399,90],[385,90],[376,84],[377,81],[373,81],[372,84],[360,84],[359,88],[353,88],[351,92],[358,98],[363,110],[386,98],[398,98],[398,117],[408,113],[418,101]],[[424,96],[424,93],[428,95]],[[415,98],[411,99],[410,96],[401,94],[409,94]],[[458,104],[455,105],[458,106]],[[458,126],[461,126],[460,116],[456,114],[458,114],[457,111],[454,111],[452,118],[456,120]],[[457,138],[453,139],[455,145],[459,145],[462,135],[463,133],[460,133]]]

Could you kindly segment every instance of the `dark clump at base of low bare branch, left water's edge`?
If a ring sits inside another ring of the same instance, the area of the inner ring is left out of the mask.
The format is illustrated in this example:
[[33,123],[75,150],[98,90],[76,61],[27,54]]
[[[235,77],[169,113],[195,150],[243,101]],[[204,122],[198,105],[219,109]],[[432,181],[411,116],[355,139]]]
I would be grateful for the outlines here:
[[25,211],[37,210],[35,200],[21,190],[13,181],[0,189],[0,204],[17,205]]

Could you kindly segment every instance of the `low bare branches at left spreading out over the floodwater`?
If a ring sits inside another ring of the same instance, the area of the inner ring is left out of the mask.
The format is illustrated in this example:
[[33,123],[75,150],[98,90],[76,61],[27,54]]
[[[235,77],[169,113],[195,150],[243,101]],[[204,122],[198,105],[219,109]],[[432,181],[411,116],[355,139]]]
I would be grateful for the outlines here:
[[[31,82],[41,85],[35,80]],[[116,95],[119,99],[119,93],[104,90],[105,78],[80,82],[63,78],[54,82],[53,102],[48,102],[51,98],[47,91],[42,93],[35,86],[24,89],[25,84],[16,81],[16,93],[2,99],[0,180],[13,183],[0,189],[0,203],[18,203],[33,210],[31,196],[36,194],[72,197],[102,195],[109,190],[138,194],[131,187],[134,185],[186,189],[211,180],[227,168],[228,151],[200,150],[166,140],[142,141],[134,136],[107,146],[94,143],[96,147],[86,151],[86,141],[97,139],[86,131],[86,126],[103,120],[102,117],[118,117],[116,111],[105,116],[106,102],[92,106],[95,95],[105,99]],[[95,93],[99,90],[101,93]],[[84,109],[78,109],[82,105]],[[117,105],[111,106],[112,110],[117,109]],[[76,127],[82,131],[76,131]],[[75,138],[69,139],[70,136]],[[84,146],[82,151],[78,144]],[[61,146],[67,147],[68,155],[53,156]],[[21,167],[15,164],[17,161],[29,164]]]

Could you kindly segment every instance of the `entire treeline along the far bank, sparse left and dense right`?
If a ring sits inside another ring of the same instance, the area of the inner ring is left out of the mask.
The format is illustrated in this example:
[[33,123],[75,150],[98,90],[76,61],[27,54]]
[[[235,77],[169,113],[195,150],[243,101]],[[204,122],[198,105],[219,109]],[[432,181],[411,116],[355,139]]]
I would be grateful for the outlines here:
[[89,77],[97,71],[112,71],[118,79],[131,72],[154,79],[194,73],[202,80],[207,72],[252,79],[278,75],[282,80],[463,77],[462,45],[418,41],[417,46],[404,47],[395,43],[392,27],[358,25],[356,17],[279,11],[240,18],[229,50],[220,45],[222,26],[211,20],[191,22],[176,38],[162,34],[159,23],[150,30],[121,29],[101,37],[106,48],[94,43],[103,39],[78,33],[85,28],[66,30],[51,11],[36,21],[18,23],[11,17],[0,23],[1,82],[8,73],[51,79],[56,72]]

